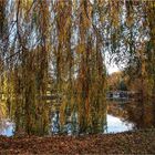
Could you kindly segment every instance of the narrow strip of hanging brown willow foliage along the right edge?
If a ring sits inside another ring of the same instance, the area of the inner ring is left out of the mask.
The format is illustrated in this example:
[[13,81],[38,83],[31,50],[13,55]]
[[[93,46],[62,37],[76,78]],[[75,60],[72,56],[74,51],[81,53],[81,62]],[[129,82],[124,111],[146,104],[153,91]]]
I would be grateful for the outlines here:
[[151,99],[154,95],[154,2],[140,3],[138,19],[140,45],[136,48],[137,64],[140,66],[140,79],[142,83],[142,97]]

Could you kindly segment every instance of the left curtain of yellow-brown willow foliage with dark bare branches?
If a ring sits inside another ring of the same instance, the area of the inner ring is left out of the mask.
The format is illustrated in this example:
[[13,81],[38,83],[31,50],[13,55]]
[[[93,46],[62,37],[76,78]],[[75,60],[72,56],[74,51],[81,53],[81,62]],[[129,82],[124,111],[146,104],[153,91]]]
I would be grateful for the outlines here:
[[9,32],[2,40],[8,49],[1,54],[4,100],[11,104],[17,132],[43,134],[48,132],[49,108],[39,96],[46,93],[48,86],[49,6],[18,0],[4,8],[8,13],[4,18],[9,17],[6,20]]

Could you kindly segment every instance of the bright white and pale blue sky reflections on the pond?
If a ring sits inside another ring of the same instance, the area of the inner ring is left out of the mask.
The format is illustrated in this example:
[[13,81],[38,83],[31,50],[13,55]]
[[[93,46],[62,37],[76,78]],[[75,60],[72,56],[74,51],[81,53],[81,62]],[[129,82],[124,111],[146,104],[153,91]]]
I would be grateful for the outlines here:
[[[79,135],[79,127],[78,124],[68,123],[63,126],[63,130],[60,130],[60,122],[59,120],[55,120],[56,116],[53,117],[51,124],[49,134],[66,134],[66,135]],[[4,121],[7,122],[7,121]],[[125,131],[133,130],[132,123],[124,123],[121,118],[115,117],[113,115],[107,114],[107,124],[103,126],[104,132],[103,133],[120,133]],[[1,126],[2,124],[0,124]],[[74,127],[74,125],[76,127]],[[3,126],[0,128],[0,135],[7,135],[12,136],[14,134],[13,132],[14,125],[13,123],[8,123],[7,126]]]

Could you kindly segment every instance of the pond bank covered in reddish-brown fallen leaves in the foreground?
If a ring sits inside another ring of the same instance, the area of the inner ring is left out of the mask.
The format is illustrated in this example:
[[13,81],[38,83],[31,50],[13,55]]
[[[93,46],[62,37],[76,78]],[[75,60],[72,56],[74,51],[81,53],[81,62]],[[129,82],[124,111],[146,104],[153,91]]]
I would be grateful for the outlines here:
[[155,128],[84,136],[0,136],[0,154],[155,154]]

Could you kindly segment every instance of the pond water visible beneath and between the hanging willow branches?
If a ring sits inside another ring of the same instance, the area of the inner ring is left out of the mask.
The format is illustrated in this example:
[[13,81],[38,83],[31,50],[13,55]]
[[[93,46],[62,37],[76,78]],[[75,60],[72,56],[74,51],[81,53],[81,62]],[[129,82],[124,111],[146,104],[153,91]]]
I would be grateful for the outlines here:
[[[94,133],[120,133],[140,128],[155,127],[155,104],[153,102],[121,102],[107,101],[107,113],[103,123],[89,126],[85,132],[80,133],[78,114],[65,116],[65,122],[61,122],[60,111],[51,113],[49,124],[49,135],[52,134],[94,134]],[[0,134],[11,136],[16,124],[9,120],[0,121]]]

